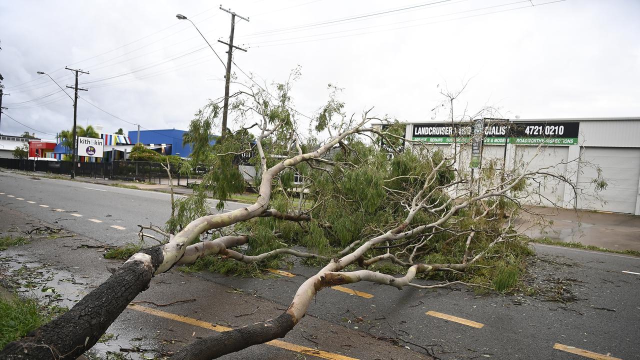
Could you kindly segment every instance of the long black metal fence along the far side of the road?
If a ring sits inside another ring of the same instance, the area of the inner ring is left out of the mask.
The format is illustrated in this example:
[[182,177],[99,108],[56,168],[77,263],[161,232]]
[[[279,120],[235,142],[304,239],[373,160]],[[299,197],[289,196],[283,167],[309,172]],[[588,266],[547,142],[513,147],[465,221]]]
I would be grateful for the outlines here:
[[[76,176],[93,177],[96,179],[112,179],[125,181],[144,181],[150,183],[168,184],[169,176],[161,163],[148,161],[113,161],[102,163],[76,164]],[[26,159],[0,158],[0,167],[14,170],[47,172],[50,174],[71,175],[73,163],[71,161],[46,161]],[[194,172],[195,174],[196,172]],[[182,176],[177,168],[171,169],[173,183],[187,186],[200,181],[198,177]]]

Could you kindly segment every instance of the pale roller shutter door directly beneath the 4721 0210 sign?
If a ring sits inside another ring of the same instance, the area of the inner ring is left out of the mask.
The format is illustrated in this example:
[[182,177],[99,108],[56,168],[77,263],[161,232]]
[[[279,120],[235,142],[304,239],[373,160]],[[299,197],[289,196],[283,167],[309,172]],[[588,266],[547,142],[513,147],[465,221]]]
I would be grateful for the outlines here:
[[[550,174],[566,176],[566,163],[569,154],[567,146],[517,146],[515,156],[515,166],[520,172],[531,172],[547,168],[544,171]],[[559,181],[553,176],[536,177],[539,183],[529,181],[529,192],[536,192],[540,195],[530,195],[526,202],[541,206],[563,206],[564,186],[563,181]]]

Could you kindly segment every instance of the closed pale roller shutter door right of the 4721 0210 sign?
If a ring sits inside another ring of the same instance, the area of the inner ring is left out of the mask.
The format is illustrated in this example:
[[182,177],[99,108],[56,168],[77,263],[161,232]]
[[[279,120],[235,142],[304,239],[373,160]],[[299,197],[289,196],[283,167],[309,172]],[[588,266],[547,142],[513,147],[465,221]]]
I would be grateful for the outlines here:
[[[601,203],[595,194],[595,185],[591,183],[598,174],[588,162],[602,169],[607,180],[607,189],[598,195],[606,202]],[[636,213],[640,181],[640,149],[623,147],[584,147],[580,149],[580,172],[578,186],[583,197],[578,199],[581,209],[596,209],[616,213]]]

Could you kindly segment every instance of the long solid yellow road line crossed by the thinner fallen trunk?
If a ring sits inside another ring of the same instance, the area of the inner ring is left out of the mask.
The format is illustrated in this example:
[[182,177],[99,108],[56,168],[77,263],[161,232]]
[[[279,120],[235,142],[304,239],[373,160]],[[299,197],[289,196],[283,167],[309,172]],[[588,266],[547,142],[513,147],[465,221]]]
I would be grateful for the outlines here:
[[[180,316],[180,315],[175,315],[175,314],[172,314],[172,313],[166,313],[165,311],[152,309],[150,307],[139,306],[139,305],[129,305],[128,307],[131,310],[136,310],[136,311],[140,311],[142,313],[147,313],[147,314],[150,314],[150,315],[159,316],[161,318],[175,320],[177,322],[188,323],[189,325],[202,327],[203,329],[209,329],[209,330],[212,330],[212,331],[223,332],[223,331],[233,330],[230,327],[224,327],[224,326],[221,326],[221,325],[213,325],[212,323],[204,322],[204,321],[201,321],[201,320],[196,320],[196,319],[193,319],[193,318],[188,318],[186,316]],[[280,340],[271,340],[266,344],[271,345],[273,347],[284,348],[285,350],[291,350],[293,352],[299,352],[300,354],[319,357],[321,359],[328,359],[328,360],[358,360],[358,359],[355,359],[353,357],[348,357],[348,356],[344,356],[344,355],[340,355],[340,354],[333,354],[332,352],[326,352],[326,351],[323,351],[323,350],[317,350],[315,348],[310,348],[310,347],[303,347],[301,345],[287,343],[285,341],[280,341]]]

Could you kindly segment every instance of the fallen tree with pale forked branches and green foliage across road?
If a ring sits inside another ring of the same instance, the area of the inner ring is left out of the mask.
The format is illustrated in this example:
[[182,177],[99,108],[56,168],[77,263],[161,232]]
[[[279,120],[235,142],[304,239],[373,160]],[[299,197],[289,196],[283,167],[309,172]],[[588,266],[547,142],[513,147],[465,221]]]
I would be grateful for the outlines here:
[[[373,117],[371,111],[358,119],[346,117],[344,105],[335,97],[314,120],[316,133],[328,133],[327,140],[318,142],[312,136],[303,140],[289,105],[288,85],[278,86],[275,101],[262,91],[242,95],[246,99],[235,106],[239,116],[257,116],[258,121],[214,146],[210,140],[217,105],[196,113],[187,140],[194,149],[192,161],[205,164],[209,171],[192,197],[172,199],[175,216],[164,229],[142,228],[161,234],[166,243],[131,256],[67,313],[8,344],[0,357],[76,359],[148,288],[154,275],[214,254],[239,263],[288,255],[324,266],[305,281],[278,318],[198,340],[177,352],[173,356],[177,359],[214,359],[280,338],[300,322],[314,295],[326,286],[370,281],[399,289],[458,284],[495,288],[489,282],[445,278],[426,285],[414,279],[435,272],[456,275],[497,263],[504,268],[518,266],[518,252],[525,252],[526,245],[519,241],[511,219],[518,211],[528,211],[520,203],[531,195],[527,182],[552,177],[570,183],[550,168],[518,171],[503,166],[500,181],[495,176],[472,177],[456,166],[460,150],[455,142],[450,152],[412,142],[410,151],[403,150],[403,126]],[[250,133],[254,128],[259,131],[255,137]],[[231,193],[244,188],[236,157],[253,149],[256,202],[208,214],[207,191],[223,206]],[[394,155],[390,161],[387,151]],[[283,243],[307,250],[282,247]],[[253,254],[234,250],[247,244]],[[371,270],[381,262],[404,269],[404,275]],[[344,271],[348,266],[362,270]]]

